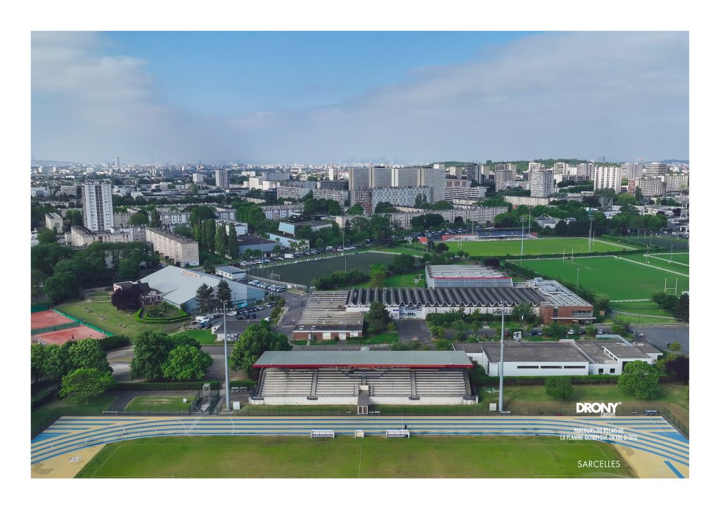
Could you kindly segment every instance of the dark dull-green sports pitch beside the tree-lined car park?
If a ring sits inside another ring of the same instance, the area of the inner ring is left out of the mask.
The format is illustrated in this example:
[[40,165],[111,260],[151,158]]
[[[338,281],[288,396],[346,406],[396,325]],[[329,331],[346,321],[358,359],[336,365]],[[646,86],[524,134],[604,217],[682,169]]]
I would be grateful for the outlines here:
[[316,277],[329,276],[335,271],[359,269],[369,274],[370,266],[374,264],[389,265],[395,255],[390,253],[348,253],[346,256],[336,256],[323,260],[299,261],[287,265],[275,266],[269,269],[253,269],[248,271],[250,276],[269,277],[277,274],[279,281],[295,284],[310,284]]

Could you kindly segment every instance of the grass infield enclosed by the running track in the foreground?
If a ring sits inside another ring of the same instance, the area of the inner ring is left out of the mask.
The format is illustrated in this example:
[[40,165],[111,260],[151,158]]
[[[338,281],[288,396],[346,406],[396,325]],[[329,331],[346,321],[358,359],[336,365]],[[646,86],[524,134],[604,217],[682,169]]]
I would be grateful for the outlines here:
[[[580,468],[580,460],[619,468]],[[559,437],[160,437],[110,443],[77,477],[635,477],[618,451]]]

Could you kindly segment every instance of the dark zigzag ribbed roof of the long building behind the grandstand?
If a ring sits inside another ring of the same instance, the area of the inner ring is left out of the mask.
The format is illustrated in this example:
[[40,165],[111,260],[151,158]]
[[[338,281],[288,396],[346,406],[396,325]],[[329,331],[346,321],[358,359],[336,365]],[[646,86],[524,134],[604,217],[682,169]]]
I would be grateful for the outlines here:
[[384,305],[500,307],[520,302],[538,306],[545,299],[531,288],[353,288],[347,305],[369,306],[374,300]]

